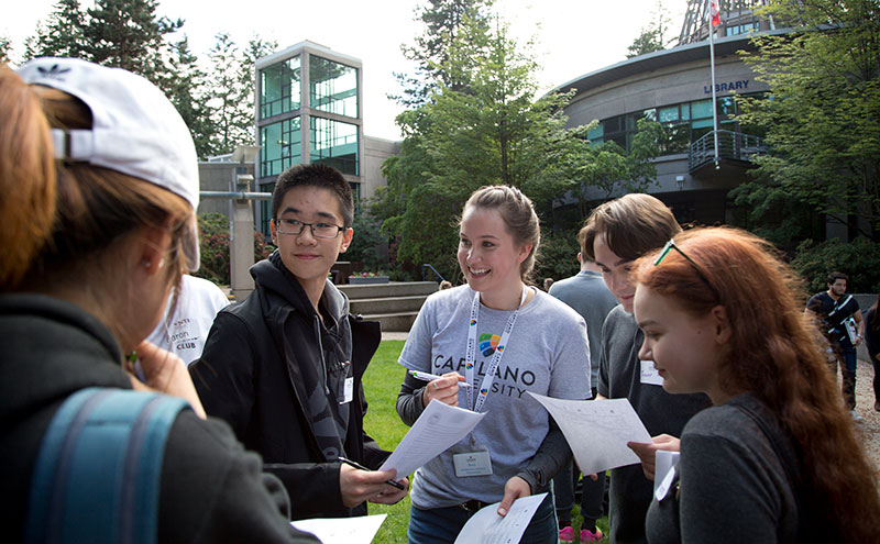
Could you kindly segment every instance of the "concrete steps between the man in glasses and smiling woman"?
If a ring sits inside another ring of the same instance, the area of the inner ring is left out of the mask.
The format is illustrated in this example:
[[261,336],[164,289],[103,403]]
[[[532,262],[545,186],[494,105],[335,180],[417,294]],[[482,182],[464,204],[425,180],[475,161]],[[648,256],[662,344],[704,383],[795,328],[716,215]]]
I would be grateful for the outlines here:
[[351,301],[351,313],[382,323],[386,332],[408,332],[425,299],[437,292],[436,281],[389,281],[337,286]]

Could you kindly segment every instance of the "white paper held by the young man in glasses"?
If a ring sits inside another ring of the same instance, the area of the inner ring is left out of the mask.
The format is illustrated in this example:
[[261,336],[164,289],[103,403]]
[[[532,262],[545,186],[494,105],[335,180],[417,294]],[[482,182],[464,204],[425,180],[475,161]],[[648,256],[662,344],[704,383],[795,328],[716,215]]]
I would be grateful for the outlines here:
[[462,440],[488,412],[475,413],[432,400],[380,470],[397,470],[397,479]]

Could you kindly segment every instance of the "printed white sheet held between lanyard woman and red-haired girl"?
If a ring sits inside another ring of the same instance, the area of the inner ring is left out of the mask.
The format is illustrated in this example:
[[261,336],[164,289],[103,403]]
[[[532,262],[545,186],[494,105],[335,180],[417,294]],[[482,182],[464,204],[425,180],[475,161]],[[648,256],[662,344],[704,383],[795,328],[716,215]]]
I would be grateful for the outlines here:
[[553,417],[583,474],[639,463],[626,443],[651,442],[627,399],[561,400],[529,395]]

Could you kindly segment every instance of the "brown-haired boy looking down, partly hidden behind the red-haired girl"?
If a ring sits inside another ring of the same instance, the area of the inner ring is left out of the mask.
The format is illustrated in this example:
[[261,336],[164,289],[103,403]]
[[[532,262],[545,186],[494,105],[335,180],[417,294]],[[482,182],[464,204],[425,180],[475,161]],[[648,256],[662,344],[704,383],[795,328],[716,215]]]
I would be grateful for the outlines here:
[[651,436],[659,436],[654,444],[630,444],[641,466],[610,471],[608,536],[613,544],[646,542],[645,515],[653,492],[654,449],[675,449],[684,424],[710,403],[702,393],[666,392],[651,362],[639,357],[644,335],[632,318],[636,284],[630,271],[637,258],[662,247],[680,232],[675,217],[663,202],[639,193],[600,206],[578,234],[587,258],[596,262],[605,285],[620,301],[608,313],[602,330],[596,398],[629,399]]

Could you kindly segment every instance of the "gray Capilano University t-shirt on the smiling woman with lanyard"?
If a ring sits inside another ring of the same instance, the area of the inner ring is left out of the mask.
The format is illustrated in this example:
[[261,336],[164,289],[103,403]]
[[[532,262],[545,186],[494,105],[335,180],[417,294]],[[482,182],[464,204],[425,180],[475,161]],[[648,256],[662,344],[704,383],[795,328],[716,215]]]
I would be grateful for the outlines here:
[[[464,376],[473,299],[474,291],[468,286],[431,295],[409,332],[399,363],[410,370],[432,374],[455,370]],[[476,388],[483,381],[510,313],[480,306]],[[490,414],[473,433],[476,443],[490,451],[493,474],[455,476],[452,455],[470,449],[465,437],[416,470],[410,491],[413,504],[431,509],[471,499],[499,501],[504,485],[528,464],[549,430],[550,415],[526,391],[559,399],[586,399],[591,395],[584,320],[542,291],[537,291],[519,311],[481,410]],[[459,406],[466,404],[465,388],[461,388]]]

